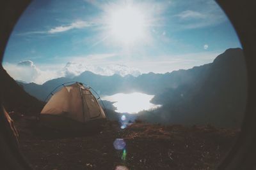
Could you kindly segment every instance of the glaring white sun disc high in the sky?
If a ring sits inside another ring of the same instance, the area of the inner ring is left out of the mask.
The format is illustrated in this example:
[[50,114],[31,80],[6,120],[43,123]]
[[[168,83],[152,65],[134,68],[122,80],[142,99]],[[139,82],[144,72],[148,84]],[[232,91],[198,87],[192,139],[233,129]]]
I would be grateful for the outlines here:
[[111,11],[108,24],[111,37],[118,43],[131,45],[145,38],[145,16],[135,6],[124,6]]

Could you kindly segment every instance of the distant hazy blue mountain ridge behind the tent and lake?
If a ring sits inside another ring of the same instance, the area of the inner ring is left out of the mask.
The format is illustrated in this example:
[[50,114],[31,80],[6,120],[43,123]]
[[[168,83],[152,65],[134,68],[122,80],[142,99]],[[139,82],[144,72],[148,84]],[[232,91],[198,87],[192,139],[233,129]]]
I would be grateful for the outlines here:
[[165,74],[147,73],[137,77],[131,74],[124,77],[119,74],[102,76],[90,71],[84,71],[74,78],[56,78],[46,81],[42,85],[22,83],[20,81],[18,83],[24,87],[26,92],[41,101],[44,101],[54,88],[70,81],[86,83],[95,89],[100,96],[113,95],[119,92],[143,92],[156,95],[164,92],[166,89],[176,89],[180,85],[193,82],[193,80],[204,76],[208,67],[208,64],[205,64],[204,66],[193,67],[188,70],[173,71],[172,73]]

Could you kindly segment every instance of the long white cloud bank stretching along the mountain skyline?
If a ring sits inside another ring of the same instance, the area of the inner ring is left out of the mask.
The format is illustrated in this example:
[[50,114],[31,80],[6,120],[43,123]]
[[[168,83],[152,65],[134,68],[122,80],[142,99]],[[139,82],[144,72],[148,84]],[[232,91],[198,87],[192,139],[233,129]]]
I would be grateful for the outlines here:
[[[45,81],[60,77],[74,77],[84,71],[91,71],[95,74],[110,76],[120,74],[125,76],[132,74],[139,76],[141,73],[166,73],[178,69],[189,69],[193,66],[201,66],[212,62],[221,52],[200,52],[188,53],[184,55],[163,55],[150,57],[147,59],[136,60],[118,60],[107,62],[116,54],[106,53],[98,55],[89,55],[88,59],[77,57],[67,64],[40,64],[37,67],[31,60],[24,60],[18,64],[3,63],[4,69],[15,80],[22,80],[28,83],[35,82],[42,84]],[[68,58],[68,59],[73,59]],[[106,59],[106,60],[104,60]],[[125,63],[120,64],[120,63]]]

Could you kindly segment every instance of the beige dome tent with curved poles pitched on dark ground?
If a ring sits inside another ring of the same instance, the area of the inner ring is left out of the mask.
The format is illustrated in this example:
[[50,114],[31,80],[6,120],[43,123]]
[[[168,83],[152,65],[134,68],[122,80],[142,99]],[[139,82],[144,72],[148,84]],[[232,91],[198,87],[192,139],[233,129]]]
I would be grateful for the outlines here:
[[78,82],[63,85],[58,92],[51,93],[51,99],[41,111],[40,122],[61,130],[74,130],[82,126],[84,129],[84,125],[90,129],[92,125],[99,127],[106,120],[106,115],[99,104],[100,98],[96,99],[90,89]]

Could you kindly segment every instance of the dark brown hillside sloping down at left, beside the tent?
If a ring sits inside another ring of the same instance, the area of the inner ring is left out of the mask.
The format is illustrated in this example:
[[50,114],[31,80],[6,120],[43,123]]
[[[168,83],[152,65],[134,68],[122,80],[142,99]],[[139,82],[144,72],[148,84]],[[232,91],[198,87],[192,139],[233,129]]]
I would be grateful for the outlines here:
[[0,66],[0,89],[3,105],[6,111],[15,111],[22,114],[40,113],[44,103],[24,91],[21,85]]

